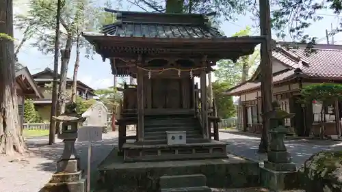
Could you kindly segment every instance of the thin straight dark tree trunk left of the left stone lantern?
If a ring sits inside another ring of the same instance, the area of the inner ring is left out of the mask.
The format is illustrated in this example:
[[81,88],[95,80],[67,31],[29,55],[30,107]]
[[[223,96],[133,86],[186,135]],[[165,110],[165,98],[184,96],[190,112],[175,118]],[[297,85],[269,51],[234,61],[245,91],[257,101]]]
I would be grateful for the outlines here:
[[[56,14],[56,29],[55,29],[55,55],[53,58],[53,82],[52,82],[52,99],[51,99],[51,113],[50,113],[50,129],[49,129],[49,145],[55,143],[55,133],[60,130],[56,128],[55,119],[53,118],[57,113],[57,79],[58,79],[58,57],[60,56],[60,18],[61,18],[61,0],[57,1]],[[59,127],[59,126],[58,126]]]

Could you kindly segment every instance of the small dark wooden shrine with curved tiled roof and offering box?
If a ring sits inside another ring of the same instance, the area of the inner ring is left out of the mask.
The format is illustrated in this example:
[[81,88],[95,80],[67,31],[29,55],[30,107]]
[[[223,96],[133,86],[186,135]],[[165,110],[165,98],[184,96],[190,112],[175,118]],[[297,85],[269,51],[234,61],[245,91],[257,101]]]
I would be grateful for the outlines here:
[[[206,74],[220,59],[252,54],[265,38],[227,38],[203,14],[107,11],[116,22],[83,36],[109,59],[114,75],[137,79],[124,88],[118,120],[124,161],[226,157],[226,143],[209,128],[218,118],[207,110]],[[126,136],[128,124],[137,125],[136,136]]]

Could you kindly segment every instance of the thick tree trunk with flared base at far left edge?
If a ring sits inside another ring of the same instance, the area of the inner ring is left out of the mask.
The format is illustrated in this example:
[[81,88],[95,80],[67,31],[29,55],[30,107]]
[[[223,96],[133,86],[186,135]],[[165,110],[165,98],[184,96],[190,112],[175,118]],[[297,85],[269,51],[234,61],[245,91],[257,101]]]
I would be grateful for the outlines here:
[[[13,37],[13,1],[0,1],[0,33]],[[0,152],[13,155],[26,150],[19,126],[14,77],[14,42],[0,40]]]

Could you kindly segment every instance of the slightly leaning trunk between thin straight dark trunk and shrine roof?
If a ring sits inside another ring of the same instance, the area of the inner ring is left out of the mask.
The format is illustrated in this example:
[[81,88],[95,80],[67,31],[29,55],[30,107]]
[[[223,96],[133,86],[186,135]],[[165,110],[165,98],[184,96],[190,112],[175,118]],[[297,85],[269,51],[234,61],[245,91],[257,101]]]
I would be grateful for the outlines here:
[[[61,74],[60,74],[60,85],[58,86],[58,102],[57,102],[57,113],[56,115],[61,115],[64,113],[67,93],[66,93],[66,76],[68,74],[68,64],[70,61],[71,48],[73,46],[73,36],[68,33],[68,38],[66,39],[66,46],[64,50],[61,50]],[[60,123],[56,122],[56,128],[60,128]]]

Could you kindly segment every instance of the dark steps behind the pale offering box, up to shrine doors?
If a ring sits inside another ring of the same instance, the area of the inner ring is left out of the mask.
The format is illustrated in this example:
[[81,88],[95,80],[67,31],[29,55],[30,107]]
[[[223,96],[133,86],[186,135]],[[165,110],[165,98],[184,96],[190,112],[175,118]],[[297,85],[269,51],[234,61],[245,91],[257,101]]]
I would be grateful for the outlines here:
[[166,143],[166,131],[186,131],[188,143],[202,140],[200,122],[194,115],[145,116],[144,141]]

